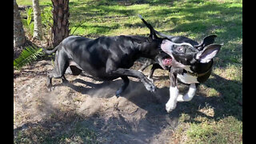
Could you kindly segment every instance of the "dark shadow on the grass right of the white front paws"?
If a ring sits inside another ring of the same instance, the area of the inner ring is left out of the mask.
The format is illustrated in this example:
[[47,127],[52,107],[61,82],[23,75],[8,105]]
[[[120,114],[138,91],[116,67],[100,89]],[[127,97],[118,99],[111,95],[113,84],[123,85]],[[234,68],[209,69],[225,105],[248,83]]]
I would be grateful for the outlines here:
[[[242,83],[227,80],[217,74],[212,74],[206,83],[202,84],[208,88],[218,91],[218,95],[208,96],[203,90],[199,90],[190,102],[178,102],[177,108],[172,114],[189,114],[190,119],[185,122],[201,123],[195,118],[213,119],[215,122],[228,116],[233,116],[242,121]],[[214,116],[202,113],[198,109],[213,109]]]

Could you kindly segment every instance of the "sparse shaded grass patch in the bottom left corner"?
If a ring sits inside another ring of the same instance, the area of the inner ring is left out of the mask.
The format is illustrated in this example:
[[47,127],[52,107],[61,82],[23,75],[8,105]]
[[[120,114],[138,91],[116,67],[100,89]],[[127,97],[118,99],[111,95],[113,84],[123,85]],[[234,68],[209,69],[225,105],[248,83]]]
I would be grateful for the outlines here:
[[74,126],[62,127],[58,134],[54,130],[59,125],[53,126],[28,126],[26,130],[18,130],[14,136],[14,143],[97,143],[96,134],[76,122]]

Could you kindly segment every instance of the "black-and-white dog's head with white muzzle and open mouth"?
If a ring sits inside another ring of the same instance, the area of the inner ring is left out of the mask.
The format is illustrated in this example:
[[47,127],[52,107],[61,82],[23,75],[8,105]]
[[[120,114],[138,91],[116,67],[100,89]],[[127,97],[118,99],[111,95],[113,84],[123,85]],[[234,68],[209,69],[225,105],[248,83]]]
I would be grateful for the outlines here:
[[[210,37],[210,36],[209,36]],[[169,39],[162,41],[161,49],[170,55],[170,58],[164,58],[162,63],[164,66],[174,66],[178,68],[188,69],[196,73],[191,66],[198,63],[209,63],[222,47],[221,45],[211,44],[206,41],[206,37],[201,44],[192,46],[190,43],[175,43]]]

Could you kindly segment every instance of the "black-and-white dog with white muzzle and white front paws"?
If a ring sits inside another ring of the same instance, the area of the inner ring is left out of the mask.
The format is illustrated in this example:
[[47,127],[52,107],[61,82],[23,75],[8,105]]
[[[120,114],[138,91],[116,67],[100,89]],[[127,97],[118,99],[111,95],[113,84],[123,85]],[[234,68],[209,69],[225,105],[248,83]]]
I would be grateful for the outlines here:
[[[145,20],[142,19],[142,21],[146,23]],[[148,27],[153,29],[150,26]],[[198,44],[198,42],[190,38],[183,36],[175,37],[159,33],[156,30],[154,31],[164,38],[161,48],[170,55],[170,58],[165,56],[164,58],[159,58],[159,60],[154,60],[149,77],[152,78],[155,69],[166,69],[164,67],[169,66],[170,99],[166,103],[166,110],[170,112],[175,109],[177,102],[190,101],[194,97],[198,84],[206,82],[210,77],[213,58],[218,54],[222,45],[212,44],[214,43],[214,38],[217,37],[216,35],[207,36]],[[146,64],[150,64],[150,62]],[[184,96],[178,92],[177,80],[190,84],[190,89]]]

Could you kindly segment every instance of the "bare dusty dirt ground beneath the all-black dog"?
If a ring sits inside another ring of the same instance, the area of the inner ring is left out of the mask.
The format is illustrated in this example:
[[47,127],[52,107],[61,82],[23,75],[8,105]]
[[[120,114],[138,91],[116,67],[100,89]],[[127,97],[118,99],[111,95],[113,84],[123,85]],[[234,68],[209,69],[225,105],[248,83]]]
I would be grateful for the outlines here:
[[[137,63],[134,69],[139,66]],[[54,135],[80,122],[94,131],[100,143],[170,142],[178,126],[178,111],[167,114],[165,110],[169,98],[167,71],[154,74],[158,101],[136,78],[130,78],[119,98],[114,93],[122,79],[101,82],[85,74],[66,75],[66,85],[53,79],[54,90],[48,92],[46,74],[52,69],[50,61],[42,60],[14,71],[14,135],[33,126],[48,127],[48,133]],[[149,68],[144,74],[148,73]]]

